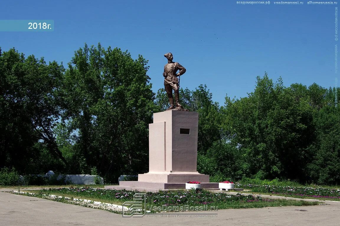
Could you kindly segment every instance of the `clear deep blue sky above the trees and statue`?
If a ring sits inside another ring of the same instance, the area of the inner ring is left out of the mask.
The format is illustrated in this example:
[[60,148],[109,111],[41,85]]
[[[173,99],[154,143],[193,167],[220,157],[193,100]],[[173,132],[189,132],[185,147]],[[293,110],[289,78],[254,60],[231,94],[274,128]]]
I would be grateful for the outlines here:
[[236,2],[1,1],[0,19],[50,19],[54,32],[0,32],[0,46],[65,67],[85,42],[119,47],[149,60],[155,92],[163,87],[163,55],[172,52],[187,69],[181,87],[206,84],[220,104],[226,94],[247,96],[265,71],[286,86],[335,86],[337,5]]

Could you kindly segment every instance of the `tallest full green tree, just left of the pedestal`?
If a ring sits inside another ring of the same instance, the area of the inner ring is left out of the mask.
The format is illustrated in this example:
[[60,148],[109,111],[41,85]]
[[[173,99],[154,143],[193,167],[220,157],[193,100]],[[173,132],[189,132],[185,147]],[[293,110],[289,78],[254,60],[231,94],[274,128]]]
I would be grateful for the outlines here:
[[106,180],[141,173],[148,166],[148,124],[154,93],[147,61],[133,60],[118,48],[85,44],[66,70],[63,99],[65,139],[73,144],[74,161],[83,172],[97,167]]

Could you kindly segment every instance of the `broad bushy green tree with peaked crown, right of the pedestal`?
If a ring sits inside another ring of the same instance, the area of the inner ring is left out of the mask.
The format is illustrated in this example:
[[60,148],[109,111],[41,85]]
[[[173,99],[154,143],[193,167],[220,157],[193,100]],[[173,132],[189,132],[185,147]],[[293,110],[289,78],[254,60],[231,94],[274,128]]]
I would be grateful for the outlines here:
[[244,158],[243,174],[264,178],[304,178],[313,141],[312,108],[296,100],[282,79],[257,77],[254,92],[240,100],[226,98],[225,125]]

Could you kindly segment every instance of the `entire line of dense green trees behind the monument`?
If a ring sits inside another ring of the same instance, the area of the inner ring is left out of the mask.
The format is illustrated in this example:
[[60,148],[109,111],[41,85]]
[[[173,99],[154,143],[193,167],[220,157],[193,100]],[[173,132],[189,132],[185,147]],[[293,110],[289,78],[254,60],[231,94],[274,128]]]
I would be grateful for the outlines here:
[[[152,92],[147,60],[118,48],[75,51],[64,68],[0,49],[0,169],[98,173],[106,182],[148,171],[148,124],[168,107]],[[339,89],[257,77],[248,97],[212,101],[180,89],[199,112],[198,170],[216,178],[340,183]]]

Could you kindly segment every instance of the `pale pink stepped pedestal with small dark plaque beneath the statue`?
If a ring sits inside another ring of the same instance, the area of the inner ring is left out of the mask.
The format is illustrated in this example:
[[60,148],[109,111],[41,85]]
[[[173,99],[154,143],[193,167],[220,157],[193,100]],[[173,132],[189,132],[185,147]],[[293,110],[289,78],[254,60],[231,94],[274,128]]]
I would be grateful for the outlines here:
[[[168,110],[153,114],[149,124],[149,172],[138,181],[120,181],[124,187],[185,188],[188,181],[209,183],[209,175],[197,171],[198,113]],[[218,188],[211,183],[205,188]]]

